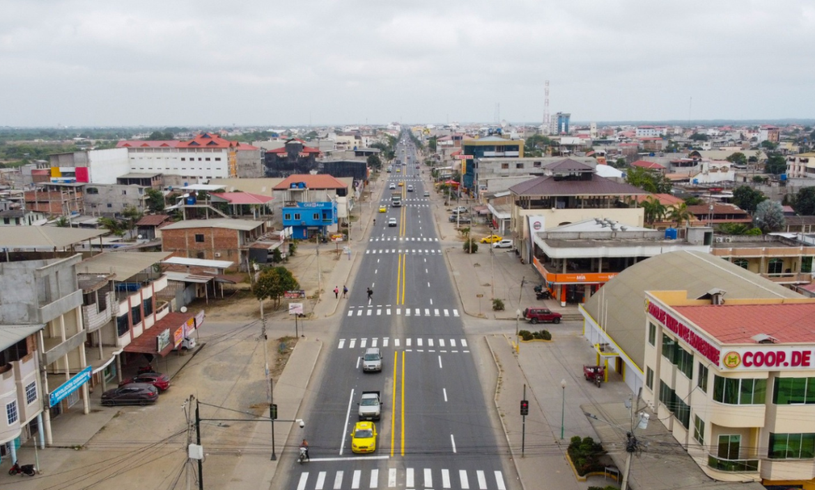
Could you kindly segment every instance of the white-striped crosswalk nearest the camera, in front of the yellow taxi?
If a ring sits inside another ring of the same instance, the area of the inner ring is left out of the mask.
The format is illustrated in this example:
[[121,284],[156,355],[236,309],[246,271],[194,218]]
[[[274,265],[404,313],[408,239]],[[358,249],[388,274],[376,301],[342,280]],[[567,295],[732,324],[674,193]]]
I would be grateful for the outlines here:
[[[365,475],[363,475],[363,472]],[[330,473],[330,475],[329,475]],[[463,490],[506,490],[501,471],[438,470],[406,468],[399,475],[396,468],[353,471],[303,471],[297,490],[346,490],[350,488],[461,488]],[[435,473],[435,474],[434,474]],[[332,478],[333,477],[333,478]],[[350,483],[350,484],[349,484]],[[441,483],[441,485],[439,485]],[[454,486],[455,485],[455,486]]]

